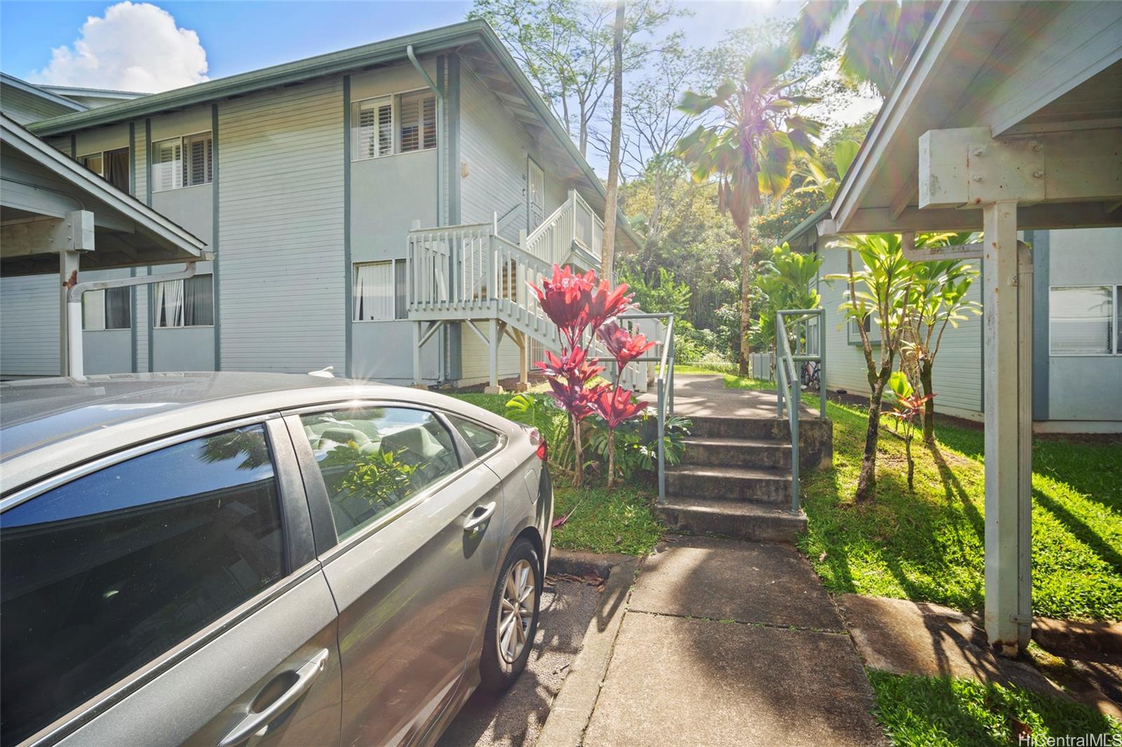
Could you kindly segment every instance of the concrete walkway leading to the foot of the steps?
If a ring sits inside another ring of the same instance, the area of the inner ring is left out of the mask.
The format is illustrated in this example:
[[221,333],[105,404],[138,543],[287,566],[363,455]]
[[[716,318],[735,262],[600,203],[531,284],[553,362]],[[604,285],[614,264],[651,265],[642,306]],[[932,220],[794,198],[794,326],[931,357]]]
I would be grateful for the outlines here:
[[583,745],[882,745],[872,699],[792,546],[668,537],[632,591]]

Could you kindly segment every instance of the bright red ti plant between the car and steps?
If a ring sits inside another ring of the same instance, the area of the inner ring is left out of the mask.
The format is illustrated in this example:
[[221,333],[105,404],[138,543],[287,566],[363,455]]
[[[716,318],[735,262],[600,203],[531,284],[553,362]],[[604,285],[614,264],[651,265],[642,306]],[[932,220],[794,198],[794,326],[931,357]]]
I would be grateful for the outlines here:
[[[542,280],[539,288],[531,284],[542,311],[557,324],[561,338],[561,356],[546,352],[546,360],[536,366],[549,378],[553,400],[569,414],[572,425],[577,472],[573,485],[583,482],[585,462],[581,448],[580,424],[586,417],[599,413],[608,422],[608,486],[613,485],[615,461],[613,435],[615,427],[643,411],[645,404],[632,403],[631,393],[619,394],[619,371],[650,349],[643,335],[633,338],[613,320],[632,304],[627,286],[608,287],[597,284],[596,273],[581,275],[571,268],[553,266],[553,277]],[[608,347],[617,362],[616,380],[611,385],[590,386],[604,371],[599,360],[591,356],[592,340],[597,336]],[[644,347],[646,345],[646,347]]]

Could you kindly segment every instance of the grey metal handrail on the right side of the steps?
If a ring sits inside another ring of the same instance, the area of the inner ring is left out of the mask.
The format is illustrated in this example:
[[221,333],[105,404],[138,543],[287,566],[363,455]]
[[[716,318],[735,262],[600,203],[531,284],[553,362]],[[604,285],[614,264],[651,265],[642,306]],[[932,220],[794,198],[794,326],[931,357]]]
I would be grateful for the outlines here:
[[[809,334],[798,334],[795,326],[795,350],[791,353],[791,342],[784,317],[795,325],[807,324],[812,317],[818,320],[818,352],[809,353]],[[800,344],[801,343],[801,344]],[[826,417],[826,310],[825,308],[788,308],[775,313],[775,398],[778,417],[783,417],[787,407],[787,421],[791,428],[791,513],[798,514],[799,507],[799,398],[801,393],[800,376],[797,363],[818,363],[818,395],[820,398],[818,416]]]

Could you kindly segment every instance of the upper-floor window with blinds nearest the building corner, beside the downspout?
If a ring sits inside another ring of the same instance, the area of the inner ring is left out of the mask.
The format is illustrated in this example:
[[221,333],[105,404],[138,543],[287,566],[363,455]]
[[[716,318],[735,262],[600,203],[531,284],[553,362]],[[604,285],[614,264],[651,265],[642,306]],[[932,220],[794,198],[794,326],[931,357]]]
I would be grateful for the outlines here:
[[351,159],[436,147],[436,98],[419,91],[351,105]]

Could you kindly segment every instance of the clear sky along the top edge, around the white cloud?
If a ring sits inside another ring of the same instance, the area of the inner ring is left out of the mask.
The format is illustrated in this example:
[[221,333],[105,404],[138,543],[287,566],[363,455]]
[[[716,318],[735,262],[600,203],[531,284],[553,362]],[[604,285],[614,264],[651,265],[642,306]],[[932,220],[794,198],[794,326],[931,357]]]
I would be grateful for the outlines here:
[[[74,45],[90,16],[111,2],[0,3],[0,67],[17,77],[44,70],[52,49]],[[197,33],[209,77],[367,44],[462,20],[471,2],[155,2],[175,25]],[[693,45],[766,16],[794,16],[800,2],[688,2],[679,19]]]

